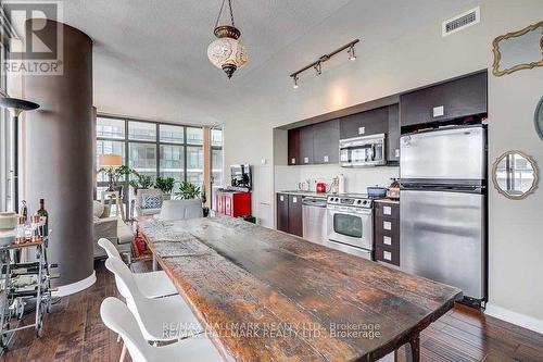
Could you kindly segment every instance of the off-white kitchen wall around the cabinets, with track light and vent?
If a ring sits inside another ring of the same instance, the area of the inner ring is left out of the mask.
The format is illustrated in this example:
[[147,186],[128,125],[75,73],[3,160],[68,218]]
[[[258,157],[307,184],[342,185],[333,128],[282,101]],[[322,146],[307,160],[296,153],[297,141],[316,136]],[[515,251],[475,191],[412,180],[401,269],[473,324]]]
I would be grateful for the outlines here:
[[[441,37],[443,20],[478,4],[480,24]],[[260,165],[262,159],[273,164],[274,127],[490,67],[492,40],[541,21],[541,0],[352,1],[257,70],[258,82],[240,83],[232,108],[225,111],[225,164]],[[355,62],[339,55],[325,64],[321,76],[307,72],[292,89],[288,74],[355,37],[363,39]],[[533,128],[542,89],[543,68],[489,75],[491,160],[521,149],[543,166],[543,141]],[[278,182],[269,166],[261,173],[269,179],[263,186],[255,182],[255,194],[272,202]],[[294,171],[279,182],[295,178]],[[543,325],[542,204],[541,189],[523,201],[491,191],[490,302]],[[273,225],[273,208],[258,204],[254,212]]]

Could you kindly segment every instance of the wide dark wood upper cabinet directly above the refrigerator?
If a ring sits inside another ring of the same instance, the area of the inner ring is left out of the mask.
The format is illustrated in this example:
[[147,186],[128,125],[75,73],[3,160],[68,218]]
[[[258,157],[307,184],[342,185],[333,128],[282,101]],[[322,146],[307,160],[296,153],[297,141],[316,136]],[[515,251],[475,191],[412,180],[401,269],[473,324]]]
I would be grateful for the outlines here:
[[400,96],[401,126],[445,122],[487,113],[487,72]]

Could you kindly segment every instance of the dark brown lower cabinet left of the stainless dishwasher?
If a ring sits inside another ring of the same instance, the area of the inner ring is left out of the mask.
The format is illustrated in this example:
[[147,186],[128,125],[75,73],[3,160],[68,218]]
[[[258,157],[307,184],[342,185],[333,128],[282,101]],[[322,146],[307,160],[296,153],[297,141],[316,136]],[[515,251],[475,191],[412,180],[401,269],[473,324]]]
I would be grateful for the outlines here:
[[301,196],[277,194],[277,229],[303,236]]

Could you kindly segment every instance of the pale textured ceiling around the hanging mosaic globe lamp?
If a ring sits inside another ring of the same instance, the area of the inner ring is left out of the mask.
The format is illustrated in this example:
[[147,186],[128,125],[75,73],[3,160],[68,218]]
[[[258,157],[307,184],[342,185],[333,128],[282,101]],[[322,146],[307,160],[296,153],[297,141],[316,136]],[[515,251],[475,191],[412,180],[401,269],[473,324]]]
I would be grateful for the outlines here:
[[206,55],[220,2],[65,1],[64,23],[94,41],[94,105],[99,112],[190,124],[222,123],[222,111],[230,103],[225,97],[229,89],[257,80],[275,53],[350,1],[232,0],[250,62],[231,80]]

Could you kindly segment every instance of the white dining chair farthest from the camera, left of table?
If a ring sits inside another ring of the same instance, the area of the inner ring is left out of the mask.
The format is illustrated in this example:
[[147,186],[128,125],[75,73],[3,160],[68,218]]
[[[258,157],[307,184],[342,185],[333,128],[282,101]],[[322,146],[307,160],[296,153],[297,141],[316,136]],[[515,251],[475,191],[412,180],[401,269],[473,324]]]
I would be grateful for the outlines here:
[[[105,250],[108,258],[116,258],[122,260],[118,250],[113,242],[105,238],[98,240],[98,245]],[[125,265],[126,266],[126,265]],[[139,291],[146,298],[161,298],[177,294],[175,285],[164,271],[154,271],[148,273],[132,273],[128,266],[126,269],[132,274],[134,280],[138,286]]]

